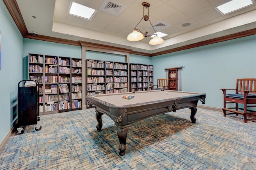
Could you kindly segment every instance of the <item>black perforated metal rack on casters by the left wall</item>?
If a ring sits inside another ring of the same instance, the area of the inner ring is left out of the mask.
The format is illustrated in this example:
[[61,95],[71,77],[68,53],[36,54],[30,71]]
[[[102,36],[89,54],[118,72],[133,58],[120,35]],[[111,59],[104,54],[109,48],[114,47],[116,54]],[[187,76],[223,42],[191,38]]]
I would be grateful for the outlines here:
[[[21,86],[22,85],[22,86]],[[18,83],[18,133],[24,133],[25,126],[35,125],[41,130],[39,116],[39,83],[35,80],[22,80]]]

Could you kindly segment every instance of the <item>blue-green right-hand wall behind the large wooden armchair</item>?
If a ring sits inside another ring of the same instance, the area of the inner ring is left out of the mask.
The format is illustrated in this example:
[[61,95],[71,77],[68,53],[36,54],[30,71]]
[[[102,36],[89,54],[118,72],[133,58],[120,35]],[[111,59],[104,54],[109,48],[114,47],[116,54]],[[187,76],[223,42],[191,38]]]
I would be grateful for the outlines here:
[[235,88],[238,78],[256,78],[256,35],[155,56],[152,63],[154,82],[166,76],[164,68],[185,66],[182,91],[206,93],[206,106],[222,108],[220,88]]

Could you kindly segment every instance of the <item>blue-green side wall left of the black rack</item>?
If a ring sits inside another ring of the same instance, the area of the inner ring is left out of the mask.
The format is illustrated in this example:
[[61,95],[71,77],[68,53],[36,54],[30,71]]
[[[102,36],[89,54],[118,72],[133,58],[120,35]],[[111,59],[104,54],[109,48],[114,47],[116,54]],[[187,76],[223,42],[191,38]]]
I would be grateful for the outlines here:
[[0,1],[0,142],[12,128],[17,115],[18,82],[22,80],[23,38],[4,2]]

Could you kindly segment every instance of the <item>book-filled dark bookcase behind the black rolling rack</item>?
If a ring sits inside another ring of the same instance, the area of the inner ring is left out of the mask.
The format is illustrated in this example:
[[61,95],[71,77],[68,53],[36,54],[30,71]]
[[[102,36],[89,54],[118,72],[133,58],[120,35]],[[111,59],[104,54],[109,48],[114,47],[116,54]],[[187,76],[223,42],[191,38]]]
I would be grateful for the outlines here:
[[28,54],[28,78],[39,82],[40,115],[82,109],[82,59]]

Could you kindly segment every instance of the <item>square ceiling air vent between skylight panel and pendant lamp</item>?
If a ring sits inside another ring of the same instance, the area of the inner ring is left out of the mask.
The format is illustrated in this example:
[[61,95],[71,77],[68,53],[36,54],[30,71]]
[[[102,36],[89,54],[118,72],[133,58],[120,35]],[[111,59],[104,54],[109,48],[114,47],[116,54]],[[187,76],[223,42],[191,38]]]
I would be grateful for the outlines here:
[[113,15],[113,16],[118,16],[119,14],[121,14],[125,9],[127,8],[127,6],[125,6],[124,4],[121,4],[115,0],[105,0],[99,10],[102,12],[105,12],[107,14]]

